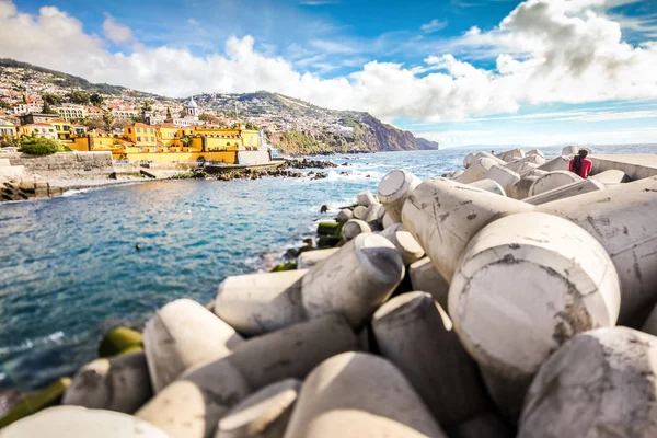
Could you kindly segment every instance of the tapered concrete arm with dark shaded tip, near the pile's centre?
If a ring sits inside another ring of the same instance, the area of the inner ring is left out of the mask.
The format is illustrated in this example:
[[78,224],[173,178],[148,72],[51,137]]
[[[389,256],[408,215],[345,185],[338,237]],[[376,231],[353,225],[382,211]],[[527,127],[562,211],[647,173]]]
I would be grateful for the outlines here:
[[392,295],[404,273],[402,256],[388,239],[359,234],[303,276],[306,314],[312,319],[339,313],[358,330]]

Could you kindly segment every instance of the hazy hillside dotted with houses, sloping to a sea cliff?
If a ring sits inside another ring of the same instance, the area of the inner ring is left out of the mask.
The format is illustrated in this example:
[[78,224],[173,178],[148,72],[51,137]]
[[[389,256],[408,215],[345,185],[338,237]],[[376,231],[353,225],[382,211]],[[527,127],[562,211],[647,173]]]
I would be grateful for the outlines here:
[[[114,105],[117,101],[135,108],[147,104],[163,114],[168,110],[172,114],[178,113],[189,100],[160,96],[106,83],[91,83],[83,78],[27,62],[0,59],[0,104],[5,108],[20,103],[16,100],[25,94],[32,97],[58,94],[67,102],[73,91],[101,94]],[[226,116],[262,127],[267,140],[283,152],[438,149],[437,142],[416,138],[412,132],[383,124],[368,113],[327,110],[279,93],[204,93],[193,97],[201,112],[208,113],[207,119],[212,119],[214,115],[219,118]]]

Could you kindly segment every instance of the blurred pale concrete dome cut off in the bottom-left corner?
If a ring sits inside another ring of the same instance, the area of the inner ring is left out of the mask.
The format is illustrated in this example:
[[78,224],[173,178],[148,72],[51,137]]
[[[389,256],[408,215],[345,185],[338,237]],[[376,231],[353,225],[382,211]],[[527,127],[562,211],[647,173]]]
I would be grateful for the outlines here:
[[1,438],[170,438],[130,415],[80,406],[49,407],[0,430]]

